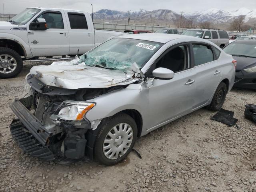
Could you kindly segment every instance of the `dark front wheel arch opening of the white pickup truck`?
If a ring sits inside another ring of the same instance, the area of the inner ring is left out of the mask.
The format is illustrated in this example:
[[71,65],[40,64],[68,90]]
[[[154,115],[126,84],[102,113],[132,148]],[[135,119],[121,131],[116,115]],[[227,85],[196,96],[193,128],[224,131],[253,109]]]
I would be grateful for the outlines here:
[[12,38],[1,38],[0,47],[6,47],[16,51],[20,56],[26,57],[26,49],[24,46],[17,40]]

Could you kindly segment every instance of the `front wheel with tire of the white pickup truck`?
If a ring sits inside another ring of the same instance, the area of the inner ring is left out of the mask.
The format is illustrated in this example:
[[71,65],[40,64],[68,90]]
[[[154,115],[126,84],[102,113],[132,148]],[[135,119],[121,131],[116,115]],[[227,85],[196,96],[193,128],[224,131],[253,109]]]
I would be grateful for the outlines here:
[[9,48],[0,48],[0,78],[12,78],[22,70],[23,62],[20,55]]

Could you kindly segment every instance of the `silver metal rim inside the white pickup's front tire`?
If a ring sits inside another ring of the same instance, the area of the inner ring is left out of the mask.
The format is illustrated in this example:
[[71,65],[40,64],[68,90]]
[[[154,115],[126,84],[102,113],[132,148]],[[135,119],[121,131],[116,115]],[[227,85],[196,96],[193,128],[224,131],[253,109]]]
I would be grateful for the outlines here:
[[11,73],[16,67],[17,62],[12,56],[8,54],[0,55],[0,73]]

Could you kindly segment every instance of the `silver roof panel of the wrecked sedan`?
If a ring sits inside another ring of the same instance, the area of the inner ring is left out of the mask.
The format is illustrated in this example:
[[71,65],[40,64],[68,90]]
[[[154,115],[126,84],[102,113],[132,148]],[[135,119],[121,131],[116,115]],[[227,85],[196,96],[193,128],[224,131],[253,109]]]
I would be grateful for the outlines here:
[[138,40],[146,40],[146,41],[154,41],[159,43],[167,43],[171,40],[181,39],[181,38],[189,38],[191,41],[205,41],[202,38],[187,36],[187,35],[178,35],[178,34],[165,34],[165,33],[146,33],[146,34],[127,34],[123,36],[118,36],[117,38],[130,38],[130,39],[138,39]]

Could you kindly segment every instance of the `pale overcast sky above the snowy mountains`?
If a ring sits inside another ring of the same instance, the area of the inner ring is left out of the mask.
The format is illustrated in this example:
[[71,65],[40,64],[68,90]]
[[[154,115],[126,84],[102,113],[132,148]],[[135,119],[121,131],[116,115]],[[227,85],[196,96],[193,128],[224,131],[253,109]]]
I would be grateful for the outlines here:
[[200,9],[218,8],[223,10],[236,10],[241,7],[248,9],[256,8],[256,0],[0,0],[0,13],[19,13],[23,9],[32,6],[44,6],[54,8],[70,8],[77,10],[98,11],[100,9],[111,10],[136,10],[139,8],[146,10],[169,9],[177,13],[185,13]]

